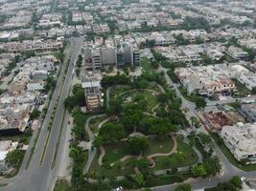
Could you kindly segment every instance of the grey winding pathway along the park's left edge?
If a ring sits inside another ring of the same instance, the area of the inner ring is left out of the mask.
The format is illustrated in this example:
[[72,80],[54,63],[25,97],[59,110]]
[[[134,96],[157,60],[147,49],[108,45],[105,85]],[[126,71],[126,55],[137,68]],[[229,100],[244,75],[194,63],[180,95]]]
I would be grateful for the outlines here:
[[90,139],[89,143],[91,145],[90,145],[90,149],[89,149],[88,159],[87,159],[86,164],[85,164],[84,169],[83,169],[83,174],[86,174],[89,171],[91,163],[92,163],[93,159],[95,158],[95,155],[96,155],[96,152],[97,152],[97,149],[92,146],[92,142],[95,139],[95,137],[94,137],[91,129],[89,128],[90,120],[93,119],[93,118],[105,117],[105,116],[106,116],[105,114],[102,114],[102,115],[96,115],[96,116],[88,117],[86,122],[85,122],[85,131],[87,132],[87,134],[89,136],[89,139]]

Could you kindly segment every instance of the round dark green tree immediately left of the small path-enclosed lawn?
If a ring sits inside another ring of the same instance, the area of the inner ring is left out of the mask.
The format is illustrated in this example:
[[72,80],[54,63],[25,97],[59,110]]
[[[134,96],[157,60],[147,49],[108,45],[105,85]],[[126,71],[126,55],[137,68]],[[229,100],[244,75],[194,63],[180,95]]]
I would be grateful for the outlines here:
[[128,150],[131,154],[139,155],[144,153],[149,148],[148,138],[129,138],[128,139]]

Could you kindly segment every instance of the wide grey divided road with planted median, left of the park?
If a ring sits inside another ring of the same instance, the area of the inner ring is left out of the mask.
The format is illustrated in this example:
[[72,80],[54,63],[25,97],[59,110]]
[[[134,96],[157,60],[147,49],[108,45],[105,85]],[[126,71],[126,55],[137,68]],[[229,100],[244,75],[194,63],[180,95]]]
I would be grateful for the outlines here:
[[[61,129],[61,121],[65,111],[63,103],[69,94],[73,69],[78,53],[81,49],[82,42],[83,40],[81,37],[72,38],[70,40],[70,44],[64,58],[64,63],[58,76],[57,86],[52,96],[48,112],[41,126],[40,135],[36,142],[35,152],[30,162],[29,168],[22,168],[18,175],[10,180],[2,180],[1,182],[7,182],[8,185],[1,187],[1,190],[48,191],[53,188],[57,169],[53,166],[52,163],[56,152],[60,153],[61,151],[59,148],[62,148],[58,147],[57,145],[58,135]],[[54,120],[51,130],[49,131],[49,127],[51,125],[51,117],[54,117]],[[32,145],[30,145],[30,147],[32,147]],[[56,159],[56,166],[59,167],[60,165],[58,165],[58,156],[61,155],[57,155]]]

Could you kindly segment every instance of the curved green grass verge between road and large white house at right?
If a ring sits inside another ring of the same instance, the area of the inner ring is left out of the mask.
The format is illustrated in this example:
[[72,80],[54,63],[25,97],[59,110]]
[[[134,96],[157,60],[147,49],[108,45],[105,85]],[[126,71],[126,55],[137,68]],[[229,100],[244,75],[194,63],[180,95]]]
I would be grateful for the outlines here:
[[214,134],[211,134],[211,135],[214,138],[215,142],[221,148],[221,151],[224,154],[224,156],[226,157],[226,159],[228,159],[231,164],[233,164],[234,166],[236,166],[244,171],[256,170],[256,164],[248,164],[248,165],[242,164],[240,161],[238,161],[237,159],[234,158],[233,154],[229,151],[229,149],[225,146],[225,144],[223,142],[219,141],[219,138],[216,135],[214,135]]

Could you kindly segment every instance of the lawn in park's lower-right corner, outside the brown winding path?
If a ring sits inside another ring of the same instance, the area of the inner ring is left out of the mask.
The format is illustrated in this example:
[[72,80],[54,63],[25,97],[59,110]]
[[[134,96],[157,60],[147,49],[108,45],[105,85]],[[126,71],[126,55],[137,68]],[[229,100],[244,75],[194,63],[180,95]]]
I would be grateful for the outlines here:
[[[170,161],[168,164],[163,162],[164,157],[155,159],[155,167],[153,170],[161,170],[161,169],[169,169],[169,168],[177,168],[187,165],[193,165],[198,161],[198,155],[194,152],[192,147],[182,140],[178,140],[177,142],[177,154],[169,157]],[[183,155],[183,159],[179,157],[179,154]]]

